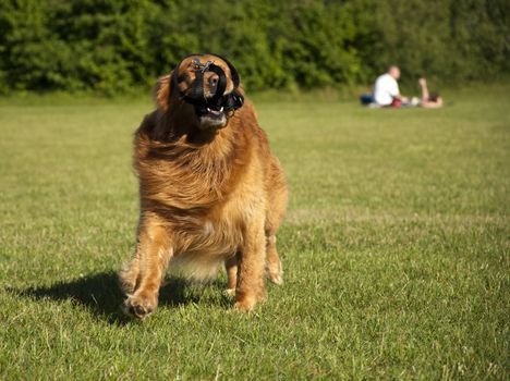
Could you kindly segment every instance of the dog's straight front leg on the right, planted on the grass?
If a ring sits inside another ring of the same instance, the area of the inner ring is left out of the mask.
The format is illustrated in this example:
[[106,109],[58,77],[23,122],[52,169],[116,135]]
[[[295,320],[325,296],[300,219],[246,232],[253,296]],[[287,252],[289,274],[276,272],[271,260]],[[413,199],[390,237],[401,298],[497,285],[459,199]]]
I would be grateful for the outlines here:
[[243,234],[243,247],[238,254],[238,286],[235,308],[250,311],[266,298],[264,271],[266,265],[266,238],[264,218],[248,221]]

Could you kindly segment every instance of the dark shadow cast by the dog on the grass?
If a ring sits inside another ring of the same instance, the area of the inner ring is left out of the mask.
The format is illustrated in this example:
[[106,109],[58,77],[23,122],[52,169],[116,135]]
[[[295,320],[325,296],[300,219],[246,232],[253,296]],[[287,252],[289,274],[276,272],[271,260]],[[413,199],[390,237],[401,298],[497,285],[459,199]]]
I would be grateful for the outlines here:
[[[170,278],[161,287],[159,295],[160,306],[177,307],[197,303],[201,296],[196,293],[186,293],[189,282],[181,278]],[[211,286],[219,287],[217,282]],[[101,320],[112,324],[125,324],[133,321],[122,311],[122,294],[117,274],[114,272],[100,272],[69,282],[60,282],[50,286],[29,287],[24,290],[7,288],[7,291],[20,296],[33,299],[72,300],[76,305],[85,307],[89,312]],[[227,300],[219,300],[221,305]]]

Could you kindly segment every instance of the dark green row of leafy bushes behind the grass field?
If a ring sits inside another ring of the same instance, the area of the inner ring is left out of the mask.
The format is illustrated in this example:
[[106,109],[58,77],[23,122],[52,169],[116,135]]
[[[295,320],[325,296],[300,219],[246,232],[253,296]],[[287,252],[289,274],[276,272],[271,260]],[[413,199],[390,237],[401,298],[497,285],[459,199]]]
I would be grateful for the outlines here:
[[250,89],[508,75],[508,0],[4,0],[0,91],[148,85],[191,52],[229,57]]

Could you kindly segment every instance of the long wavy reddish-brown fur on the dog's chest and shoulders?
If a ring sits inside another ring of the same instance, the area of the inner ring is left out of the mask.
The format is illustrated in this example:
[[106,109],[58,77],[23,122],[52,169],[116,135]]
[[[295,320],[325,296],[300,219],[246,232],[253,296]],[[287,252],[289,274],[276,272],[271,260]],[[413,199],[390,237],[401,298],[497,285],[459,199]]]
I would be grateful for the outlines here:
[[197,258],[235,254],[245,222],[265,210],[263,168],[254,146],[232,132],[199,148],[161,144],[143,133],[135,145],[144,209],[156,210],[171,225],[175,259],[193,258],[196,268]]

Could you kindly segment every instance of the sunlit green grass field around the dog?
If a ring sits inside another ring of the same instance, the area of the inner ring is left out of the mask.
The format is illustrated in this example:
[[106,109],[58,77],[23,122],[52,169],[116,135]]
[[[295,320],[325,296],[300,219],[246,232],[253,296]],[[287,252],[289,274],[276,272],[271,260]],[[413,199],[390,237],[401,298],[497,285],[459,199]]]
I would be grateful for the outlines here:
[[241,315],[224,274],[170,279],[144,323],[120,312],[116,272],[149,101],[1,101],[0,379],[508,380],[508,99],[255,98],[291,189],[286,283]]

